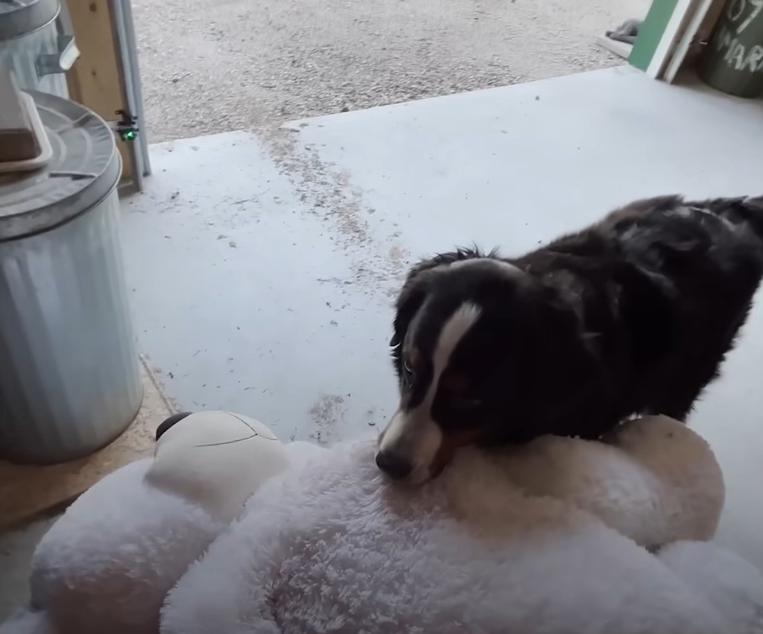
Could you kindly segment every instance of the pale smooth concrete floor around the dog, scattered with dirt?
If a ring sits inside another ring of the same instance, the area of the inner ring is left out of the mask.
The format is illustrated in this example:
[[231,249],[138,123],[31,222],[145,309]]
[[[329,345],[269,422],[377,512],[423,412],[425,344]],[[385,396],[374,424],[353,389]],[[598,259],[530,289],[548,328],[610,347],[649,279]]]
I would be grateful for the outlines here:
[[[761,138],[759,101],[618,68],[153,146],[123,224],[143,350],[181,407],[283,439],[372,433],[410,262],[520,253],[645,195],[759,194]],[[718,540],[763,568],[761,365],[758,305],[692,423],[726,474]],[[0,618],[44,529],[0,540]]]

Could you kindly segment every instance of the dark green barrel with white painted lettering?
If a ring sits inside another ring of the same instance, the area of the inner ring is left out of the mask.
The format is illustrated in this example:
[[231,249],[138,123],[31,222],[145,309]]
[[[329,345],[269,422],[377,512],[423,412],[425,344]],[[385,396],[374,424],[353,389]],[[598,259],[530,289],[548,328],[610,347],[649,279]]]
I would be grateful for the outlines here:
[[699,76],[729,95],[763,95],[763,0],[729,0],[700,58]]

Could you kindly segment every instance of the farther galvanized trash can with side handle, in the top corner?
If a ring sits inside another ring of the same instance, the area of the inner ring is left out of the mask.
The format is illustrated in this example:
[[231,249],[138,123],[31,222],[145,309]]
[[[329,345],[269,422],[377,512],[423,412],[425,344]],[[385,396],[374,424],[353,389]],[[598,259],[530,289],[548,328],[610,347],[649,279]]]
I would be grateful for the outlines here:
[[23,89],[69,96],[64,73],[79,51],[60,12],[59,0],[0,0],[0,64]]

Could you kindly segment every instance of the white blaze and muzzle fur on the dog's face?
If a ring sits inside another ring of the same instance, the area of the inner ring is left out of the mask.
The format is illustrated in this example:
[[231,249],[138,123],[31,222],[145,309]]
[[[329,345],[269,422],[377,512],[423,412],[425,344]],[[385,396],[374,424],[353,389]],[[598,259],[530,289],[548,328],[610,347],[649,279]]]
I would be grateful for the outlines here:
[[443,326],[432,356],[433,376],[427,395],[413,410],[398,410],[381,436],[379,449],[394,449],[408,456],[414,468],[427,468],[433,462],[443,433],[432,420],[432,403],[439,377],[448,365],[459,341],[472,328],[480,308],[471,302],[461,304]]

